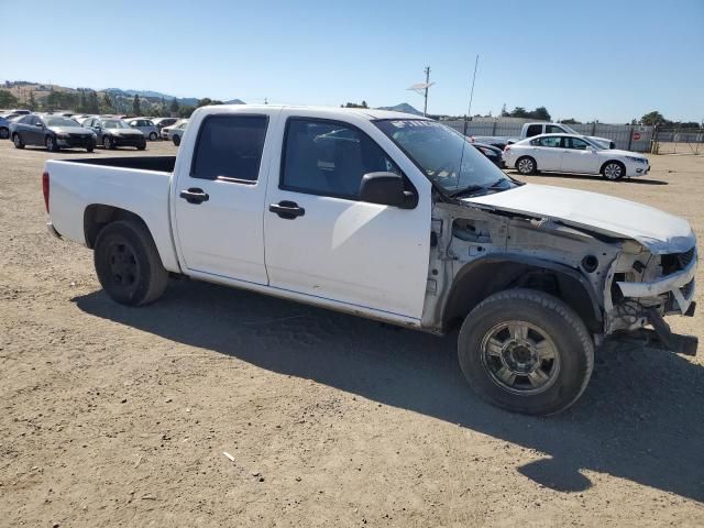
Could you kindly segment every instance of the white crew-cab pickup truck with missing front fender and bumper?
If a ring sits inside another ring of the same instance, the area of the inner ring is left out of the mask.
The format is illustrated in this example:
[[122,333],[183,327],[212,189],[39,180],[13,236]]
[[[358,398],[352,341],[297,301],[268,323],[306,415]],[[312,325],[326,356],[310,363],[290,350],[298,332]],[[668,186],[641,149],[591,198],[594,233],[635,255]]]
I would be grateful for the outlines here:
[[117,302],[155,301],[185,275],[439,334],[461,326],[462,372],[514,411],[572,405],[615,332],[696,348],[663,319],[694,311],[685,220],[514,180],[416,116],[205,107],[177,157],[48,161],[43,189],[50,231],[94,250]]

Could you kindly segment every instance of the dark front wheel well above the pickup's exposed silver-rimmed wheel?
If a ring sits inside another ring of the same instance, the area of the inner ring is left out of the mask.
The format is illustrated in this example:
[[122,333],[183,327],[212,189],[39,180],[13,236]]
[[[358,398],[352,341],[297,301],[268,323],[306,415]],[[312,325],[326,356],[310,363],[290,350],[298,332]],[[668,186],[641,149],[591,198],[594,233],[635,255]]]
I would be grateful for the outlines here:
[[528,262],[497,262],[494,258],[468,264],[458,273],[448,296],[442,316],[443,327],[449,329],[461,323],[490,295],[505,289],[527,288],[563,300],[590,330],[601,331],[601,309],[588,283],[565,266],[548,266]]

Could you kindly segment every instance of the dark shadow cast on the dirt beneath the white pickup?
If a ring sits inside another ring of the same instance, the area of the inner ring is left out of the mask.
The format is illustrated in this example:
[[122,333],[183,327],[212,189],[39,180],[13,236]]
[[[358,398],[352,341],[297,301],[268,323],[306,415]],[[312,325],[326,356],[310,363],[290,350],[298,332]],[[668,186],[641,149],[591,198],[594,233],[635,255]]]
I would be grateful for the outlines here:
[[557,491],[588,488],[583,471],[593,471],[704,502],[704,367],[674,354],[603,351],[572,409],[534,418],[472,393],[455,336],[205,283],[172,282],[160,302],[141,309],[116,305],[102,292],[73,300],[96,317],[538,450],[547,457],[517,471]]

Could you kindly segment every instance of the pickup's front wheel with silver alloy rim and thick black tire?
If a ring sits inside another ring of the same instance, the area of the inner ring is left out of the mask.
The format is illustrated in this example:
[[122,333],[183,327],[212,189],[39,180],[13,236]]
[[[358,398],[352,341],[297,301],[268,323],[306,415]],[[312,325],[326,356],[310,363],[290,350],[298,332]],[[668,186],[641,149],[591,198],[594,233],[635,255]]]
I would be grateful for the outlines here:
[[526,415],[553,415],[582,395],[594,369],[594,343],[562,300],[532,289],[487,297],[462,324],[464,377],[487,402]]

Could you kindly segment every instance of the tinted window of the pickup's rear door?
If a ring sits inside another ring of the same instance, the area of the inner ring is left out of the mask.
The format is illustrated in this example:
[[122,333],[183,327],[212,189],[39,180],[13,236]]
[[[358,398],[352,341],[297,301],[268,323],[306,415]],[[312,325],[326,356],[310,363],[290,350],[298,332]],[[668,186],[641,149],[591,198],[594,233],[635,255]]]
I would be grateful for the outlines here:
[[210,116],[198,133],[190,176],[253,184],[258,179],[268,118]]

